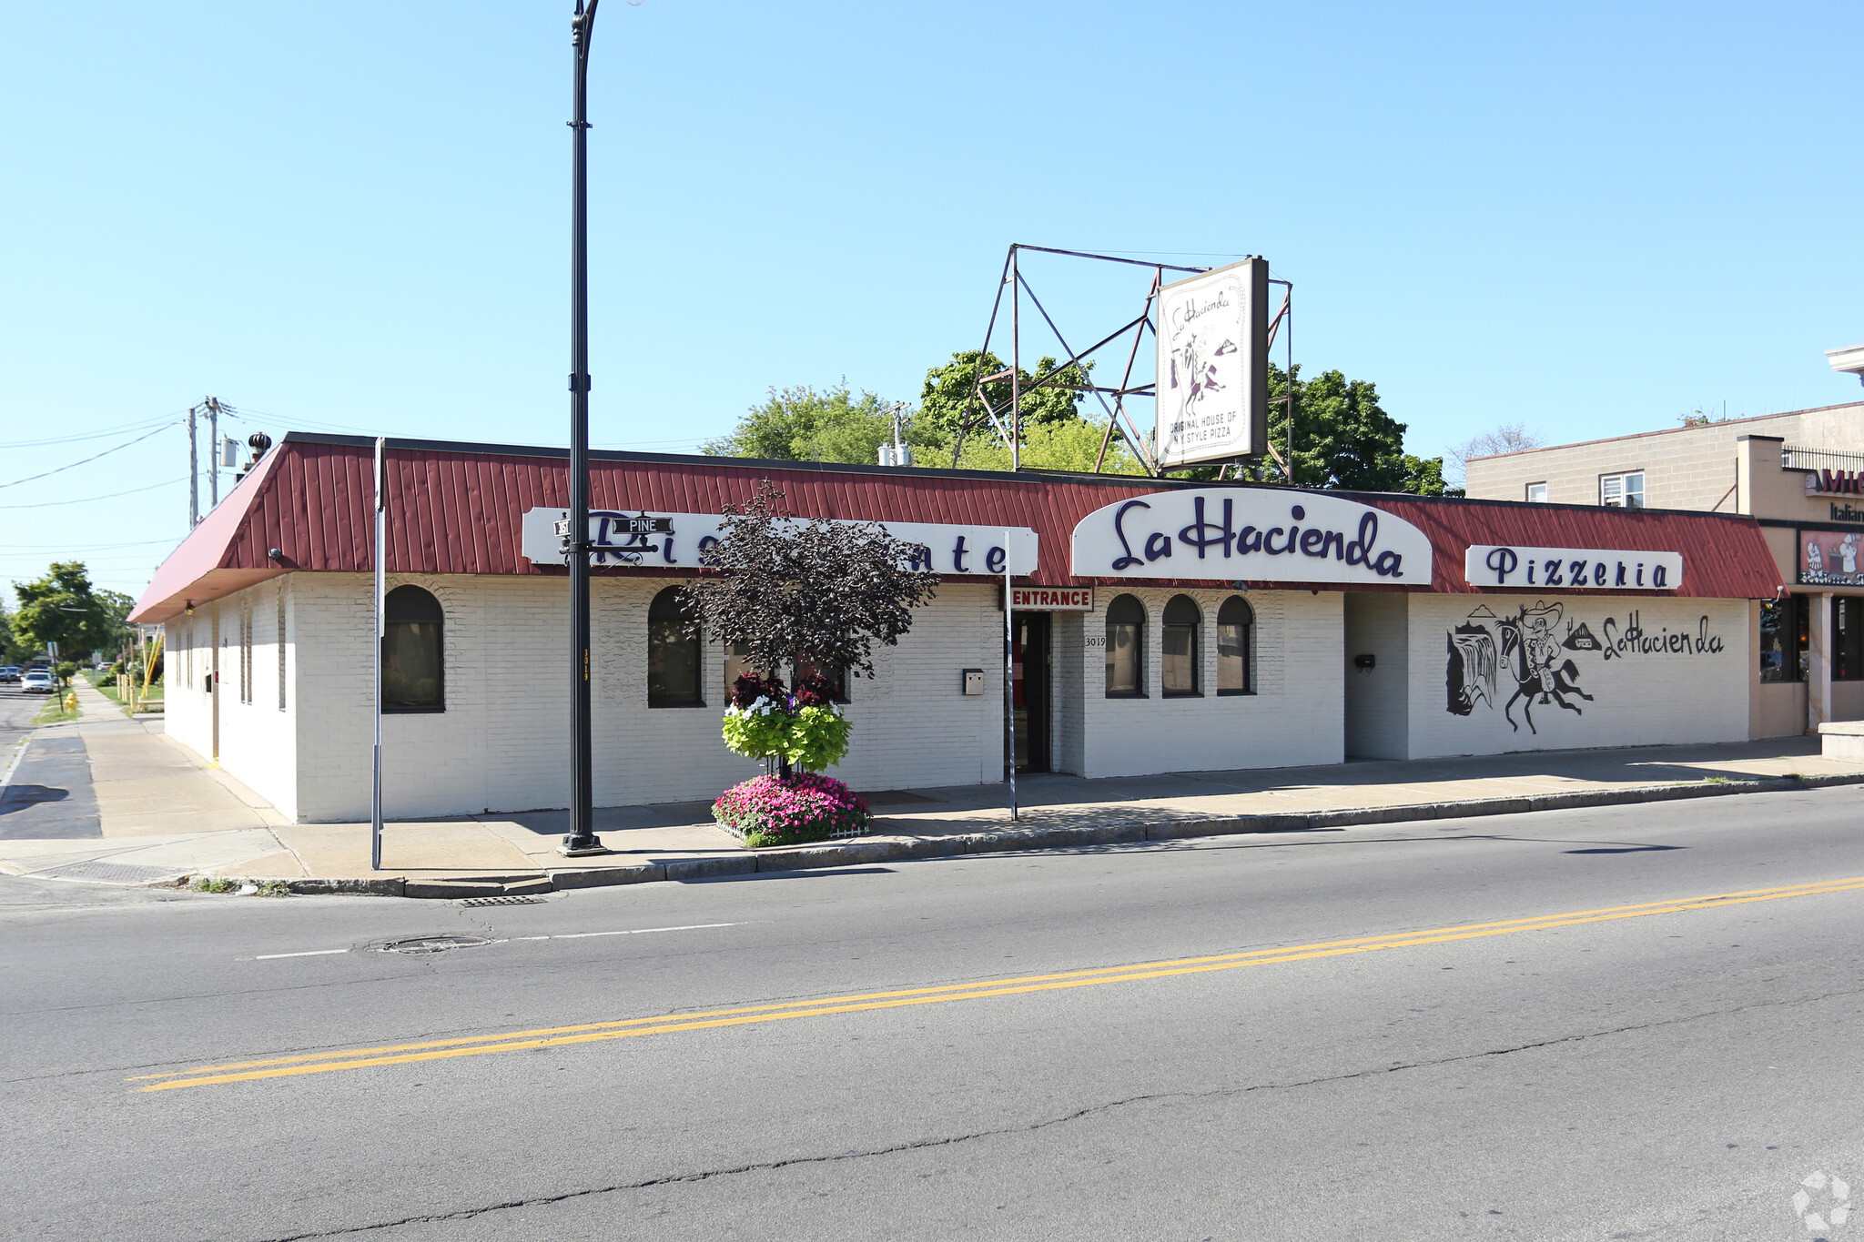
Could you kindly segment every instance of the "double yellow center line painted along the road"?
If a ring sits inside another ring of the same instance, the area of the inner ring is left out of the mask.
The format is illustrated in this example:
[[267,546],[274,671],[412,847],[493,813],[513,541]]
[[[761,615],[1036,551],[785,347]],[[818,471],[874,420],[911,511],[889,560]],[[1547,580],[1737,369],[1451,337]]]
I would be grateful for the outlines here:
[[1460,927],[1430,927],[1424,931],[1359,937],[1355,940],[1325,940],[1320,944],[1297,944],[1273,950],[1249,950],[1243,953],[1178,957],[1172,961],[1126,966],[1096,966],[1092,970],[1062,970],[1057,974],[1031,974],[1014,979],[984,979],[977,983],[947,983],[941,987],[911,987],[891,992],[859,992],[854,996],[828,996],[822,1000],[798,1000],[772,1006],[744,1006],[705,1013],[664,1013],[649,1019],[550,1026],[541,1030],[505,1032],[500,1035],[473,1035],[466,1039],[431,1039],[423,1043],[397,1043],[373,1048],[343,1048],[339,1052],[306,1052],[300,1056],[280,1056],[263,1061],[198,1065],[194,1069],[173,1071],[168,1074],[142,1074],[138,1078],[129,1078],[127,1082],[147,1084],[138,1087],[138,1091],[173,1091],[177,1087],[207,1087],[227,1082],[252,1082],[257,1078],[328,1074],[339,1069],[371,1069],[377,1065],[442,1061],[457,1056],[487,1056],[490,1052],[529,1052],[533,1048],[561,1048],[582,1043],[604,1043],[610,1039],[634,1039],[637,1035],[671,1035],[678,1032],[716,1030],[721,1026],[751,1026],[757,1022],[787,1022],[790,1019],[816,1019],[835,1013],[865,1013],[869,1009],[904,1009],[908,1006],[936,1006],[951,1000],[988,1000],[992,996],[1053,992],[1070,987],[1100,987],[1103,983],[1137,983],[1141,979],[1167,979],[1182,974],[1241,970],[1243,966],[1271,966],[1277,963],[1309,961],[1314,957],[1344,957],[1348,953],[1372,953],[1377,950],[1417,948],[1422,944],[1446,944],[1452,940],[1478,940],[1482,937],[1502,937],[1517,931],[1549,931],[1553,927],[1603,924],[1618,918],[1679,914],[1683,911],[1748,905],[1754,901],[1778,901],[1782,898],[1816,898],[1834,892],[1857,892],[1860,888],[1864,888],[1864,875],[1853,875],[1849,879],[1788,884],[1784,888],[1750,888],[1747,892],[1724,892],[1707,898],[1678,898],[1674,901],[1648,901],[1644,905],[1614,905],[1597,911],[1571,911],[1566,914],[1512,918],[1495,924],[1465,924]]

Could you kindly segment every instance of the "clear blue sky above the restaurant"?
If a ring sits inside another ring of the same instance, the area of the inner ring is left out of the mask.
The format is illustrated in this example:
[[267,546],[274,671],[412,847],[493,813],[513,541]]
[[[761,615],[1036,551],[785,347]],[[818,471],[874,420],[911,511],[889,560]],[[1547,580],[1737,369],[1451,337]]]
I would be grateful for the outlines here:
[[[274,436],[565,443],[569,13],[13,6],[0,441],[212,393]],[[915,398],[1012,240],[1268,255],[1297,361],[1424,454],[1864,397],[1821,356],[1864,341],[1860,47],[1836,2],[606,0],[593,439]],[[1077,337],[1143,296],[1029,272]],[[0,484],[125,438],[7,447]],[[138,592],[185,475],[166,430],[0,486],[0,583],[69,555]]]

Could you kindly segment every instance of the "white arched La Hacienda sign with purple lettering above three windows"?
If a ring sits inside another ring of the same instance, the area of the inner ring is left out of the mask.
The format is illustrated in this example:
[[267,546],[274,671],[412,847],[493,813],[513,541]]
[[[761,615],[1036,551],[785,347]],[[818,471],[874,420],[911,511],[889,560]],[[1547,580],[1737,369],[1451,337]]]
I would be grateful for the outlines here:
[[1117,501],[1074,527],[1076,577],[1430,587],[1430,538],[1323,492],[1187,488]]

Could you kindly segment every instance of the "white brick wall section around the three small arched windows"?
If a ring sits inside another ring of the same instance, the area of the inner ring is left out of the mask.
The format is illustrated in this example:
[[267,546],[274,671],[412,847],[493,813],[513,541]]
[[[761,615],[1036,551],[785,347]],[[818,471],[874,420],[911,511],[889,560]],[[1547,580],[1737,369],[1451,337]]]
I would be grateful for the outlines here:
[[[1089,639],[1103,639],[1105,609],[1120,594],[1096,592]],[[1338,592],[1249,592],[1256,613],[1256,693],[1215,693],[1217,609],[1232,592],[1187,590],[1204,614],[1199,644],[1202,698],[1159,696],[1159,618],[1174,590],[1137,588],[1146,609],[1148,698],[1105,696],[1105,646],[1083,650],[1085,776],[1338,763],[1344,758]],[[1100,598],[1105,596],[1105,598]]]

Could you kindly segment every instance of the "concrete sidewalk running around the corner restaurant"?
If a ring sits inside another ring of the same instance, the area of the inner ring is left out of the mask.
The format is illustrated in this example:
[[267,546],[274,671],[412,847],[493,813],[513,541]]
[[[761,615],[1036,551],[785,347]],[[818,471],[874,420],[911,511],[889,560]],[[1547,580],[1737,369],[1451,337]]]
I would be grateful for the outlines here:
[[718,829],[705,801],[596,810],[596,830],[615,853],[593,858],[555,853],[567,812],[391,823],[384,870],[373,873],[367,823],[287,823],[252,790],[168,741],[160,721],[129,721],[88,685],[78,698],[86,719],[39,730],[28,760],[54,739],[82,739],[101,834],[52,836],[41,823],[21,838],[9,832],[11,816],[0,814],[4,871],[116,884],[222,875],[280,879],[296,892],[472,898],[1864,784],[1864,762],[1821,758],[1810,737],[1107,780],[1044,775],[1018,782],[1014,823],[1007,786],[876,791],[867,795],[872,836],[766,851],[747,851]]

